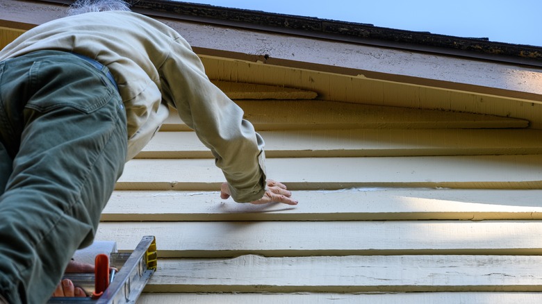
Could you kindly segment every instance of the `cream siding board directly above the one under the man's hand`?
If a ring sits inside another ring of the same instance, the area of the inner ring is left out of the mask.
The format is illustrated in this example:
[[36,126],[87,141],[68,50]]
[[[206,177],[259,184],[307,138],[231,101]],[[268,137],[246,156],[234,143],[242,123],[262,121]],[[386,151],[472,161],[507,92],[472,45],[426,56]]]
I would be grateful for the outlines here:
[[[401,158],[268,158],[268,178],[290,189],[450,187],[541,189],[542,155]],[[325,174],[322,174],[325,173]],[[131,160],[117,190],[216,191],[224,181],[209,159]]]

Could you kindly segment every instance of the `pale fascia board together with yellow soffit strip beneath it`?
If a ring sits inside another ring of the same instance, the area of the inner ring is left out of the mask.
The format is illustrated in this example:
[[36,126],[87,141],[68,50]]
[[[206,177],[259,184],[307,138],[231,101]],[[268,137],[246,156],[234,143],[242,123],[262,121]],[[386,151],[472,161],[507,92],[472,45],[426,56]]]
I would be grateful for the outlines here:
[[[0,8],[0,26],[17,29],[65,11],[44,1],[0,0]],[[542,69],[533,65],[155,18],[188,40],[216,81],[295,87],[328,101],[516,117],[542,128]]]

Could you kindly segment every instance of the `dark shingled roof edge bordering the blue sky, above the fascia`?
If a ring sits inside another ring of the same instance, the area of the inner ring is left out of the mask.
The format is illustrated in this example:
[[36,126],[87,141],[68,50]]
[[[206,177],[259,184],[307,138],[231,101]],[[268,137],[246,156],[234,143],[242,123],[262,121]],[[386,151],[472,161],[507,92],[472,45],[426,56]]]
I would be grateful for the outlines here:
[[[73,2],[65,0],[49,1]],[[340,22],[316,17],[224,8],[181,1],[138,0],[134,2],[132,6],[134,11],[155,17],[168,17],[192,22],[235,26],[258,31],[315,37],[377,47],[423,51],[542,67],[542,47],[491,42],[487,38],[455,37],[427,32],[404,31],[373,26],[372,24]]]

